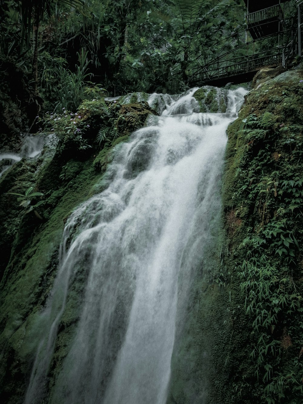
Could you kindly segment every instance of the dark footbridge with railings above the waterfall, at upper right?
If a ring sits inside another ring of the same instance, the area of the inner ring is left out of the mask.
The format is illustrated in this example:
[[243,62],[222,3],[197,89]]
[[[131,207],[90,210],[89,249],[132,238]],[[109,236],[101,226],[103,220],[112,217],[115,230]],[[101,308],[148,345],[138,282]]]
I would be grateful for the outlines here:
[[231,50],[193,69],[189,76],[189,84],[191,86],[207,84],[224,86],[229,82],[239,84],[252,80],[263,67],[280,65],[291,67],[296,57],[301,57],[302,53],[303,2],[297,6],[296,15],[286,18],[284,17],[286,1],[288,0],[280,0],[279,4],[275,4],[278,0],[263,0],[266,8],[259,10],[255,1],[244,0],[247,6],[246,28],[238,34],[242,34],[246,39],[245,42],[233,46],[231,36]]

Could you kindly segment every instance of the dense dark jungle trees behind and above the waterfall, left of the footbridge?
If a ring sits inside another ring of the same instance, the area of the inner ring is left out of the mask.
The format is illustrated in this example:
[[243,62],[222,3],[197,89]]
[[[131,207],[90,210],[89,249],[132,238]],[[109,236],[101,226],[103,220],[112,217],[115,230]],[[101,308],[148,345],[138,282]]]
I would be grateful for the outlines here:
[[[8,126],[3,133],[13,133],[14,126],[34,133],[37,115],[63,107],[75,111],[98,94],[179,93],[188,88],[193,69],[246,41],[242,0],[0,4],[0,102],[19,116],[14,124],[2,118]],[[288,2],[286,13],[295,6]],[[276,44],[259,44],[268,46]]]

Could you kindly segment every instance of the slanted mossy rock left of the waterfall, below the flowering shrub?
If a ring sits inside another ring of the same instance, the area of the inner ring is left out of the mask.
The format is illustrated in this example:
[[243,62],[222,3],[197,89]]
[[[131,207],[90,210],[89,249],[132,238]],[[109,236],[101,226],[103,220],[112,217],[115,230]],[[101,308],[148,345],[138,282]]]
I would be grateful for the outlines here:
[[[56,276],[65,222],[81,202],[104,188],[102,178],[112,160],[112,148],[127,138],[119,137],[100,152],[101,170],[95,169],[98,158],[96,160],[95,151],[90,150],[85,161],[76,158],[66,161],[60,154],[47,158],[43,166],[42,159],[39,162],[21,160],[1,178],[1,191],[23,193],[26,187],[36,185],[36,190],[43,191],[45,198],[40,205],[43,220],[39,220],[34,215],[24,215],[13,195],[10,198],[0,195],[2,232],[7,225],[11,234],[11,238],[4,240],[8,256],[2,255],[2,262],[6,264],[9,259],[10,262],[0,284],[0,343],[5,347],[0,364],[0,390],[5,402],[23,402],[44,329],[43,324],[37,325],[41,318],[39,312],[45,307]],[[42,166],[40,170],[37,170],[38,164]],[[78,297],[79,294],[81,290],[77,289]],[[64,332],[60,334],[55,356],[59,362],[65,355],[76,321],[75,302],[68,301],[67,308],[62,323]]]

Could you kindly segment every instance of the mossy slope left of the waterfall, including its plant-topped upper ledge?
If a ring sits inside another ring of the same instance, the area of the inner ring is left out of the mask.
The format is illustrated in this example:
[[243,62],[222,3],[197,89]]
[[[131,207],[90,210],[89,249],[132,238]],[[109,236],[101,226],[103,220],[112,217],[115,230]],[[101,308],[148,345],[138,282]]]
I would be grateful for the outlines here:
[[[65,221],[81,202],[107,186],[104,173],[112,161],[113,148],[143,126],[150,114],[155,112],[146,103],[121,106],[103,100],[84,101],[73,119],[69,114],[50,118],[59,136],[55,155],[45,151],[37,160],[23,159],[1,177],[1,402],[24,400],[34,355],[44,333],[39,313],[57,273]],[[101,139],[104,130],[106,135]],[[29,187],[43,193],[38,215],[34,211],[25,214],[17,197],[5,194],[24,194]],[[50,370],[54,375],[55,367],[66,355],[77,320],[80,289],[75,288],[74,301],[67,302],[68,316],[61,319]]]

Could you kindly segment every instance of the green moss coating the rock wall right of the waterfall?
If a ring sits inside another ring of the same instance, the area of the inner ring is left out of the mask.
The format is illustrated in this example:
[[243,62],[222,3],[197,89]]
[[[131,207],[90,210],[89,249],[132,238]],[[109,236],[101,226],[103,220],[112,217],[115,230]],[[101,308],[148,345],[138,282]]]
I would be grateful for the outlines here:
[[[299,349],[301,344],[298,338],[301,326],[296,320],[301,316],[298,306],[298,301],[301,300],[299,290],[302,290],[301,241],[297,246],[290,243],[289,248],[286,248],[288,242],[284,244],[281,238],[281,235],[287,237],[293,234],[296,239],[301,240],[299,211],[295,213],[296,208],[289,205],[291,198],[295,197],[287,197],[289,192],[293,194],[296,191],[293,188],[292,191],[290,188],[287,190],[283,184],[284,181],[288,183],[289,180],[303,176],[303,88],[299,80],[300,74],[294,72],[288,73],[288,76],[292,76],[292,79],[288,80],[283,74],[278,76],[280,78],[269,80],[258,89],[252,90],[246,97],[246,105],[242,108],[238,120],[228,128],[223,179],[223,243],[228,248],[228,255],[224,261],[230,273],[227,287],[231,293],[238,294],[242,316],[242,323],[236,318],[238,326],[234,328],[233,338],[241,340],[246,330],[248,339],[247,345],[240,344],[237,351],[231,346],[230,350],[226,351],[238,367],[234,368],[229,380],[234,391],[226,385],[225,398],[221,398],[223,402],[299,403],[301,400],[302,389],[298,387],[295,391],[293,386],[299,386],[302,366],[297,363],[289,345],[283,342],[285,339],[290,343],[288,330],[291,328],[292,346],[297,345]],[[276,86],[277,80],[279,86]],[[289,143],[292,143],[292,148],[287,147]],[[302,203],[300,198],[297,208]],[[288,223],[286,227],[279,224],[281,221],[283,223],[284,219]],[[278,233],[270,233],[272,228],[279,229]],[[243,243],[246,243],[245,247]],[[252,275],[255,262],[257,272]],[[268,277],[267,272],[270,274]],[[291,282],[290,273],[296,288],[286,287],[284,284],[283,279]],[[255,279],[258,276],[259,279],[256,279],[255,284],[250,284],[250,276]],[[257,292],[260,285],[263,289]],[[241,294],[241,287],[246,288],[248,299],[251,299],[253,293],[257,296],[254,303],[256,308],[252,311],[246,311],[250,300],[244,304],[245,293]],[[266,295],[266,288],[270,290],[269,297]],[[284,294],[288,303],[281,306],[279,299]],[[256,326],[259,321],[257,307],[265,310],[263,313],[270,310],[274,313],[274,310],[277,310],[279,314],[269,323],[267,317],[263,316],[264,325]],[[274,346],[275,340],[281,341],[278,346],[281,344],[283,348],[280,351],[273,348],[273,357],[267,349]],[[219,354],[219,351],[216,354]],[[290,368],[293,373],[291,380],[287,381],[284,376],[290,372]],[[268,369],[274,370],[268,372]],[[248,385],[248,379],[252,389]],[[283,387],[278,387],[277,380]],[[279,400],[279,388],[288,391],[286,401]]]

